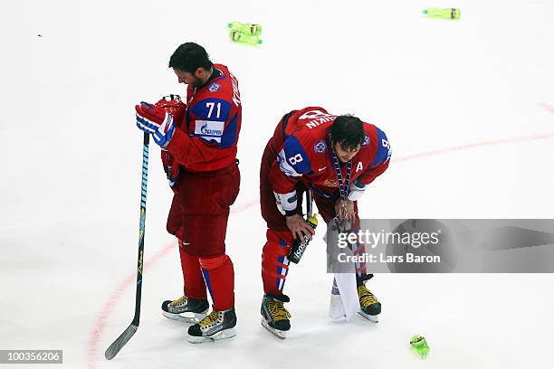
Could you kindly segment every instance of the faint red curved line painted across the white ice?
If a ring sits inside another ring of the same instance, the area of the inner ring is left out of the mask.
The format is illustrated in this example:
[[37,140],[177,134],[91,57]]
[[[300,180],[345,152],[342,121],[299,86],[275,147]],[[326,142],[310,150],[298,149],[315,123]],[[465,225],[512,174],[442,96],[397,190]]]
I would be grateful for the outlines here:
[[[541,104],[543,108],[545,108]],[[547,109],[547,108],[545,108]],[[547,109],[549,110],[549,109]],[[552,113],[554,113],[554,109],[549,110]],[[514,144],[514,143],[520,143],[520,142],[526,142],[526,141],[534,141],[534,140],[540,140],[540,139],[552,139],[554,138],[554,132],[553,133],[545,133],[541,135],[534,135],[534,136],[525,136],[525,137],[514,137],[514,138],[504,138],[504,139],[497,139],[497,140],[490,140],[490,141],[482,141],[475,144],[469,144],[469,145],[461,145],[457,147],[445,147],[440,148],[432,151],[425,151],[418,154],[413,154],[409,156],[402,156],[398,158],[393,158],[393,161],[395,163],[401,163],[406,162],[409,160],[414,160],[420,157],[426,157],[426,156],[439,156],[443,154],[452,153],[455,151],[462,151],[467,150],[470,148],[475,147],[489,147],[494,145],[504,145],[504,144]],[[259,203],[259,200],[251,200],[247,203],[236,205],[232,213],[242,213],[245,210],[251,208],[253,205]],[[161,260],[164,256],[166,256],[169,251],[174,249],[176,246],[176,243],[168,244],[165,248],[158,251],[152,258],[148,259],[145,262],[144,270],[150,269],[152,266],[154,266],[159,260]],[[137,279],[137,272],[136,270],[133,270],[129,276],[127,276],[126,279],[124,279],[121,283],[119,283],[119,286],[117,289],[115,289],[111,294],[110,297],[106,299],[106,302],[104,303],[104,307],[102,308],[102,311],[100,312],[100,315],[96,321],[96,324],[91,330],[91,337],[89,339],[89,347],[87,350],[87,367],[88,369],[95,369],[96,368],[96,359],[98,358],[98,345],[100,343],[100,336],[102,335],[102,332],[104,330],[104,326],[106,325],[106,322],[108,321],[108,318],[110,317],[113,307],[115,307],[118,302],[119,298],[123,295],[126,289],[129,289],[129,287],[135,283],[135,280]],[[130,312],[129,312],[130,314]],[[129,319],[130,319],[129,315]],[[123,329],[125,329],[127,326],[121,326],[121,332]],[[116,337],[113,337],[114,339]],[[103,357],[103,355],[102,355]]]

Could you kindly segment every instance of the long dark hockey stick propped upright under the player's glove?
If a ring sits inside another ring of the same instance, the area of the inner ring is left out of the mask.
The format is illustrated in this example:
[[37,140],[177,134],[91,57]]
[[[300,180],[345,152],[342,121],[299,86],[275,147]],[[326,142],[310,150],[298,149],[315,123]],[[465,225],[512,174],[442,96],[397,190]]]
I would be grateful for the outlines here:
[[129,339],[137,333],[139,329],[140,320],[140,296],[142,291],[142,257],[144,253],[144,223],[146,220],[146,194],[148,185],[148,144],[150,135],[144,133],[144,145],[142,147],[142,185],[140,190],[140,222],[139,222],[139,261],[137,263],[137,294],[135,298],[135,317],[130,326],[123,331],[123,333],[113,341],[113,344],[108,347],[104,354],[108,360],[111,360],[118,355],[119,350],[123,347]]

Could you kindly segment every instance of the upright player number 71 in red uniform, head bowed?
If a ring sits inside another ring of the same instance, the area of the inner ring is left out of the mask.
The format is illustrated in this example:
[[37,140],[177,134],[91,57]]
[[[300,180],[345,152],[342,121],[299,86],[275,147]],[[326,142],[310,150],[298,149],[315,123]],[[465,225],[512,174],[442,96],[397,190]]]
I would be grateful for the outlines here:
[[[180,45],[169,67],[179,83],[188,85],[186,106],[171,96],[136,107],[137,125],[162,148],[175,193],[167,231],[178,239],[185,294],[165,301],[162,310],[166,317],[196,323],[188,328],[190,342],[228,338],[235,335],[236,325],[234,270],[225,254],[225,232],[240,183],[238,82],[196,43]],[[206,287],[213,301],[207,316]]]

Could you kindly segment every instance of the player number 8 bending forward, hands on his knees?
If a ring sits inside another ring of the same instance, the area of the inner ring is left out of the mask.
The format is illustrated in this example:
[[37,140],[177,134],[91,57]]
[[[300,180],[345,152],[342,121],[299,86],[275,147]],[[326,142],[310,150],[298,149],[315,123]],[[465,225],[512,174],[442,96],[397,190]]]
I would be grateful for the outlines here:
[[[388,167],[387,136],[379,128],[353,116],[335,116],[320,107],[293,110],[279,122],[267,143],[260,169],[260,203],[267,222],[263,246],[262,323],[284,337],[291,315],[283,306],[289,298],[282,289],[289,269],[293,238],[314,233],[301,216],[302,194],[308,189],[325,222],[337,214],[359,222],[358,199]],[[358,271],[358,298],[362,313],[381,311]]]

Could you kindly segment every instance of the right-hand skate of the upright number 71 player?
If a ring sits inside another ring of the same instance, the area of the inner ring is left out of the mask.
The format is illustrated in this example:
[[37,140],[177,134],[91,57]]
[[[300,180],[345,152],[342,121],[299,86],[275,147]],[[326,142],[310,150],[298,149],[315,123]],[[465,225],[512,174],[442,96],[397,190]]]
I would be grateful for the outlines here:
[[194,326],[188,327],[188,342],[201,344],[236,336],[236,315],[234,308],[224,311],[214,310]]

